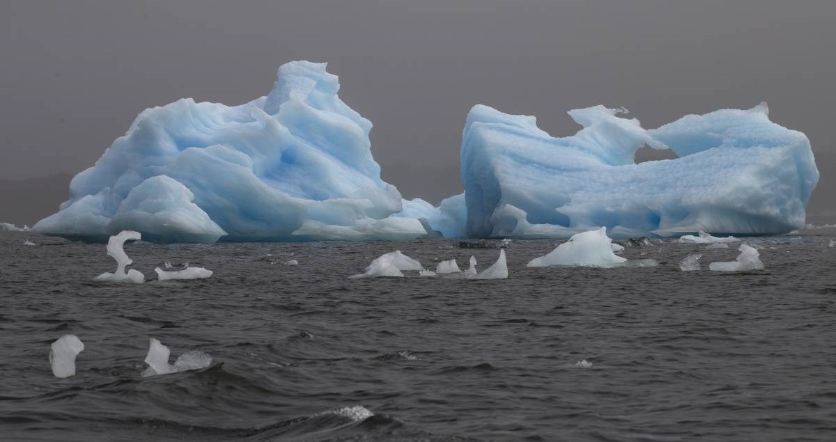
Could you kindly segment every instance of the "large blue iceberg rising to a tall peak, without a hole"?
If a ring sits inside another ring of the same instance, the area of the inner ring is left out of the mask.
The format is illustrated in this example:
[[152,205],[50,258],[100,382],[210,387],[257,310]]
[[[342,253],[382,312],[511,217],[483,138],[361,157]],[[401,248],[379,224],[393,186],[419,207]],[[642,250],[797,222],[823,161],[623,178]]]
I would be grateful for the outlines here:
[[267,97],[239,106],[145,109],[34,229],[92,241],[122,230],[171,242],[426,234],[416,219],[389,217],[402,200],[380,179],[372,124],[339,99],[325,68],[284,64]]

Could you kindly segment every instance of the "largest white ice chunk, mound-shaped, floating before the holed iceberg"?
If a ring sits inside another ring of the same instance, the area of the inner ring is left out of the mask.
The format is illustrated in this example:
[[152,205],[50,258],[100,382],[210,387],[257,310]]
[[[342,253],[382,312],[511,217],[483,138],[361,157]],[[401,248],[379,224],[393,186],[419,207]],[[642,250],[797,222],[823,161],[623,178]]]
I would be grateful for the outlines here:
[[605,227],[584,231],[569,238],[553,251],[528,262],[527,267],[584,266],[617,267],[627,261],[613,253],[612,240]]

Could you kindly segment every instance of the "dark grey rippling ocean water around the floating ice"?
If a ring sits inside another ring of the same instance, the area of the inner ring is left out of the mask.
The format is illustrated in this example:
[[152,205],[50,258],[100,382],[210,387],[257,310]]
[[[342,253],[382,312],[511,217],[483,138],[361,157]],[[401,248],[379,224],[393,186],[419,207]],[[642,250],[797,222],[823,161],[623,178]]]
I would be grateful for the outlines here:
[[[707,269],[736,246],[529,269],[556,241],[513,241],[510,277],[488,281],[347,278],[395,249],[432,268],[497,257],[457,241],[140,242],[125,251],[146,278],[164,261],[215,274],[130,285],[93,281],[115,268],[104,245],[0,233],[0,439],[834,440],[831,237],[749,239],[767,268],[744,273]],[[691,252],[703,270],[681,272]],[[59,379],[64,333],[85,349]],[[143,378],[151,337],[212,366]]]

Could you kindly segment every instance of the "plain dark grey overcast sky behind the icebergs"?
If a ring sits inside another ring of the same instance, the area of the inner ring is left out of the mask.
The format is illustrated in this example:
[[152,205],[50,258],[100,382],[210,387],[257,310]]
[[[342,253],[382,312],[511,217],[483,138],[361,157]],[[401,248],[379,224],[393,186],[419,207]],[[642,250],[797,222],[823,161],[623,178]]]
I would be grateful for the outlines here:
[[241,104],[269,93],[280,64],[308,59],[328,62],[375,124],[383,177],[408,198],[461,191],[473,104],[563,136],[579,129],[566,111],[594,104],[652,128],[765,100],[813,144],[809,211],[836,215],[833,23],[830,1],[5,0],[0,180],[74,174],[142,109]]

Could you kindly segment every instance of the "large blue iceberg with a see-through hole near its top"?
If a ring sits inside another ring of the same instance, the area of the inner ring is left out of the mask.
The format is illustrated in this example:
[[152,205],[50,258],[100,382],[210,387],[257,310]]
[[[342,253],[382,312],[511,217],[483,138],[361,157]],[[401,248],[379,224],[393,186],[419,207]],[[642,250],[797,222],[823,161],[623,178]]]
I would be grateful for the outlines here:
[[[818,183],[807,137],[772,123],[766,104],[687,115],[655,130],[594,106],[553,138],[533,116],[479,104],[467,115],[461,181],[470,237],[612,237],[696,231],[779,234],[804,226]],[[635,164],[643,145],[679,158]]]

